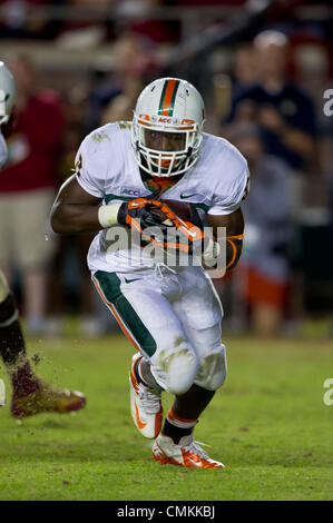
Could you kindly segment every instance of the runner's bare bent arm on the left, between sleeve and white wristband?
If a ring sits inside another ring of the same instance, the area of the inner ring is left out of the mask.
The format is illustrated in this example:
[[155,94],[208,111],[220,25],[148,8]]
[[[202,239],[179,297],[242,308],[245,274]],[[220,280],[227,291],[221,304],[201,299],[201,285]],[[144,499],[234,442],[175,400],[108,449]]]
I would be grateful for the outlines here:
[[55,233],[94,233],[102,229],[99,221],[101,198],[81,188],[72,175],[61,186],[51,209],[51,227]]

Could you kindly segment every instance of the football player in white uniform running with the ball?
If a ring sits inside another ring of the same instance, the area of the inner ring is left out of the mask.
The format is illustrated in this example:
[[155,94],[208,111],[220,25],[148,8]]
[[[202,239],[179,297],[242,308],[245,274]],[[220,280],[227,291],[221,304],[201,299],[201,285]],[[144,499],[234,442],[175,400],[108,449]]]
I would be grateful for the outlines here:
[[[100,297],[138,351],[130,366],[131,415],[144,436],[156,438],[154,458],[222,468],[193,436],[226,377],[222,305],[202,264],[193,262],[218,257],[224,241],[226,268],[236,265],[248,168],[228,141],[203,132],[204,118],[202,96],[189,82],[161,78],[148,85],[131,122],[108,124],[84,139],[51,225],[62,234],[99,231],[88,265]],[[179,220],[163,199],[190,204],[190,220]],[[151,226],[156,236],[147,233]],[[222,238],[218,227],[226,229]],[[115,249],[114,230],[118,237],[133,233],[134,243]],[[156,251],[185,251],[188,263],[151,258],[151,245]],[[161,391],[175,395],[164,422]]]

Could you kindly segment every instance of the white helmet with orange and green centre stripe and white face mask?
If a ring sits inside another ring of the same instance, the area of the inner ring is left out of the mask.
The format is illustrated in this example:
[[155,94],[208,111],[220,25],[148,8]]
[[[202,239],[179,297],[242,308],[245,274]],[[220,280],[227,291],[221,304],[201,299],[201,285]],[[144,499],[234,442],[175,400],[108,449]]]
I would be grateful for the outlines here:
[[[177,176],[198,159],[205,105],[186,80],[159,78],[140,93],[131,125],[131,145],[139,167],[151,176]],[[157,141],[156,141],[157,137]],[[151,144],[173,144],[153,147]]]

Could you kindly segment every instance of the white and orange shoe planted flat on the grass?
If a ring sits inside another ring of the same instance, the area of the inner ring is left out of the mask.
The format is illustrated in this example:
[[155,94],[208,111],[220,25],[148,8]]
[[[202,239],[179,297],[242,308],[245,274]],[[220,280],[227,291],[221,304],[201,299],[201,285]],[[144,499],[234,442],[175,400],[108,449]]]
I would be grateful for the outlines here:
[[194,441],[192,434],[183,436],[178,444],[174,443],[169,436],[159,434],[153,445],[153,455],[154,460],[161,465],[169,463],[189,468],[224,468],[223,463],[210,460],[198,442]]

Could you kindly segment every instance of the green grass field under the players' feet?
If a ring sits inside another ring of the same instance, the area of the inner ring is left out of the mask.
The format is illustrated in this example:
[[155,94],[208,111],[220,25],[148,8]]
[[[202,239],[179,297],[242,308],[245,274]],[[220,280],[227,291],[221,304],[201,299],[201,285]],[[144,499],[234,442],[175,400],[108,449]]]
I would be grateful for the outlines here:
[[227,381],[196,428],[224,471],[154,462],[129,414],[125,337],[28,346],[43,378],[85,392],[88,403],[22,422],[1,407],[1,501],[333,500],[333,405],[323,403],[333,341],[226,341]]

